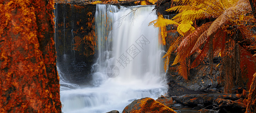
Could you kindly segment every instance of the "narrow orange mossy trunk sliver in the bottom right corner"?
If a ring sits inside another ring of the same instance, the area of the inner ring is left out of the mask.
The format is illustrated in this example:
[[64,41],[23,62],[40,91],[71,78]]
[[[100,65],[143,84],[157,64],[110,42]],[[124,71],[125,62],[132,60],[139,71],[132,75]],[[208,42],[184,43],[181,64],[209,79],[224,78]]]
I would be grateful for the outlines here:
[[256,113],[256,73],[253,76],[245,113]]

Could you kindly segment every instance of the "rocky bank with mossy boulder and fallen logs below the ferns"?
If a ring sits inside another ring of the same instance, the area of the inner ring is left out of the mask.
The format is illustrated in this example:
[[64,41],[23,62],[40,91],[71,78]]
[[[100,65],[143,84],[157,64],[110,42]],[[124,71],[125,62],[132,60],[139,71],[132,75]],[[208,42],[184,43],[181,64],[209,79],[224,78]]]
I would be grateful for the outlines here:
[[[158,99],[141,98],[127,105],[122,113],[244,113],[248,92],[189,94],[163,96]],[[119,113],[113,110],[107,113]]]

